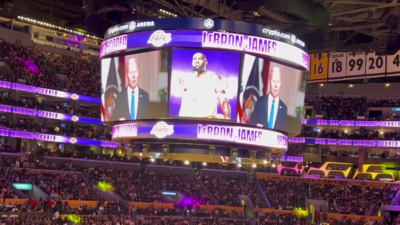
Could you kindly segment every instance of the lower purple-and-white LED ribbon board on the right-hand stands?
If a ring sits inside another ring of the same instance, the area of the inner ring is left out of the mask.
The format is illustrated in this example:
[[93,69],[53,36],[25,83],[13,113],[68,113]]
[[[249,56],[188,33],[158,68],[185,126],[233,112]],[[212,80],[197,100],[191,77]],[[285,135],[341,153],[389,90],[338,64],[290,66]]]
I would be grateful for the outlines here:
[[289,139],[289,143],[366,146],[366,147],[400,147],[400,141],[324,139],[324,138],[307,138],[307,137],[294,137]]

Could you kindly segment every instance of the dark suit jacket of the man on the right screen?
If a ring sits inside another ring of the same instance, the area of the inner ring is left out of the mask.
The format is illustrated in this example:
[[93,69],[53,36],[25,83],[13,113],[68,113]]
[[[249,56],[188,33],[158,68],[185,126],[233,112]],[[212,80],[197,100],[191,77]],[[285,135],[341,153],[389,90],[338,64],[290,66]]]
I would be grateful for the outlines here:
[[[250,118],[250,124],[262,124],[264,127],[268,128],[268,96],[269,93],[257,99],[256,106],[254,107],[253,114]],[[278,110],[278,113],[276,114],[274,129],[284,131],[286,128],[286,116],[288,115],[288,107],[282,101],[282,99],[279,99],[278,107],[276,107],[275,105],[274,110]]]

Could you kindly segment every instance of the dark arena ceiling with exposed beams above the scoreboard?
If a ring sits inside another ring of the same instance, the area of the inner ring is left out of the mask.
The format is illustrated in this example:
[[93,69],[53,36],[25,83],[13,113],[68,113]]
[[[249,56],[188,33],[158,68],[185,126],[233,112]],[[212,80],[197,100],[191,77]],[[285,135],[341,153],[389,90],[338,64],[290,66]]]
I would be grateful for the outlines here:
[[[10,4],[11,3],[11,4]],[[320,8],[312,9],[311,6]],[[2,6],[0,6],[2,7]],[[135,14],[131,13],[136,8]],[[298,36],[325,33],[322,44],[310,50],[357,50],[386,46],[390,29],[386,19],[399,15],[399,0],[6,0],[3,12],[36,17],[65,26],[90,30],[88,16],[110,24],[164,17],[159,9],[181,17],[250,20],[288,30]],[[303,16],[303,14],[305,16]],[[326,18],[325,18],[326,13]],[[322,28],[322,29],[321,29]],[[94,30],[100,35],[101,31]],[[394,32],[399,33],[397,28]],[[320,35],[318,35],[320,36]],[[315,38],[315,35],[314,35]],[[310,39],[309,42],[312,42]]]

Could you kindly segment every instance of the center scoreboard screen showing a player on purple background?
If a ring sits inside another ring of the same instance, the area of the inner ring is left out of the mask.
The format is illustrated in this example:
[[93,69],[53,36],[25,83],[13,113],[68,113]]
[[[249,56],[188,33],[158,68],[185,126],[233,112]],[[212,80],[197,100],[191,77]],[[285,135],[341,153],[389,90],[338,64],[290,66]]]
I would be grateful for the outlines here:
[[170,117],[236,121],[240,54],[174,49]]

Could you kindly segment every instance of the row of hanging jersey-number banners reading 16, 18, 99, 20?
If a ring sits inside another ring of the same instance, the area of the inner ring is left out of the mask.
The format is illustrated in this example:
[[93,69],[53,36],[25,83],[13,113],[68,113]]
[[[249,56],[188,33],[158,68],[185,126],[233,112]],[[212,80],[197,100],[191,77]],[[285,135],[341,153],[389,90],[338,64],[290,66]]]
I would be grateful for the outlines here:
[[[321,56],[321,57],[320,57]],[[400,75],[400,51],[392,56],[353,51],[310,55],[308,82],[353,80]]]

